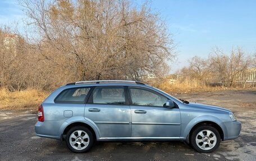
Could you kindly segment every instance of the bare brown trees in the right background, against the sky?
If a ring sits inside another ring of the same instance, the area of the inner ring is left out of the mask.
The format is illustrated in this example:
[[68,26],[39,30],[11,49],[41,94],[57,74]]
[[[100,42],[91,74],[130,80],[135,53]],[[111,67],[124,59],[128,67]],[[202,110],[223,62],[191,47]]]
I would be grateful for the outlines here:
[[213,49],[207,59],[195,56],[189,60],[189,67],[180,71],[184,79],[194,80],[203,86],[222,84],[234,86],[238,76],[244,77],[246,84],[246,74],[252,67],[252,58],[247,56],[240,47],[233,48],[230,54],[225,54],[218,47]]

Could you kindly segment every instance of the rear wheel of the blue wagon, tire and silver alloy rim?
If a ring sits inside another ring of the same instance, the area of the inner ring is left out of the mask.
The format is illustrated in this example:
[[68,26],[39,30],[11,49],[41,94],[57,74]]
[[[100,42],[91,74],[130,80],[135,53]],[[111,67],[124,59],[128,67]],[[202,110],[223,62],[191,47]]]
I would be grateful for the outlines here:
[[72,127],[67,132],[66,144],[68,149],[75,153],[85,153],[94,144],[93,134],[84,126]]

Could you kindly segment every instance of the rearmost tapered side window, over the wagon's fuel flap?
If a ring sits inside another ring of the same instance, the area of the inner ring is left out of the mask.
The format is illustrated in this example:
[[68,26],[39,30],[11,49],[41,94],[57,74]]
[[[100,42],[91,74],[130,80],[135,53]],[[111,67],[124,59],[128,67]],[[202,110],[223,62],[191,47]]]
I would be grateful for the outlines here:
[[55,103],[84,103],[90,88],[71,88],[61,92],[54,100]]

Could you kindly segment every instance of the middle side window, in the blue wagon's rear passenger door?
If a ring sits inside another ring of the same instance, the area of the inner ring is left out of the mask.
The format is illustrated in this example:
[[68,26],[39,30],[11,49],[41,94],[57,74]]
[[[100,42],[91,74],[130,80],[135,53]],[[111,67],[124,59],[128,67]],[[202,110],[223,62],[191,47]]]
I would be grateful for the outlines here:
[[97,87],[93,92],[93,103],[125,104],[124,87]]

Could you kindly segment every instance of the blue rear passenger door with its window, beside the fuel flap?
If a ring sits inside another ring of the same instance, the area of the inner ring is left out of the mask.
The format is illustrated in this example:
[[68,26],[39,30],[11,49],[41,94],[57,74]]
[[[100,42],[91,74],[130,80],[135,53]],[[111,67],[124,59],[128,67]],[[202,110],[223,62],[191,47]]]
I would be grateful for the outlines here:
[[84,117],[100,137],[131,137],[131,113],[124,86],[97,86],[85,105]]

